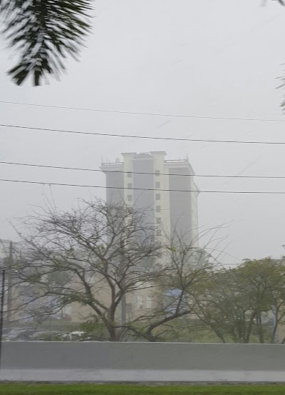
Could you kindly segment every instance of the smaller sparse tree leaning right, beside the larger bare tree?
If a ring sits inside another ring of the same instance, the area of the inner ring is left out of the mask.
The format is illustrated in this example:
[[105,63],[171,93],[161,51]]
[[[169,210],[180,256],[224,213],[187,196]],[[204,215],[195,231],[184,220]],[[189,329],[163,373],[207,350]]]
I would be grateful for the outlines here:
[[196,301],[192,296],[214,266],[195,240],[186,243],[176,233],[165,240],[162,257],[162,274],[153,294],[155,306],[128,324],[135,336],[148,341],[161,340],[166,333],[177,331],[177,325],[184,326],[177,320],[193,313]]

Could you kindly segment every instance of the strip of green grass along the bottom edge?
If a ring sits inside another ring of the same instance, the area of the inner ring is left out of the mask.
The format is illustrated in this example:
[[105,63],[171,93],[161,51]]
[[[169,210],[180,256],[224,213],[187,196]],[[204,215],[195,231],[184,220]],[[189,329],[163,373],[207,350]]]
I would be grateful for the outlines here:
[[284,395],[285,385],[0,384],[0,395]]

